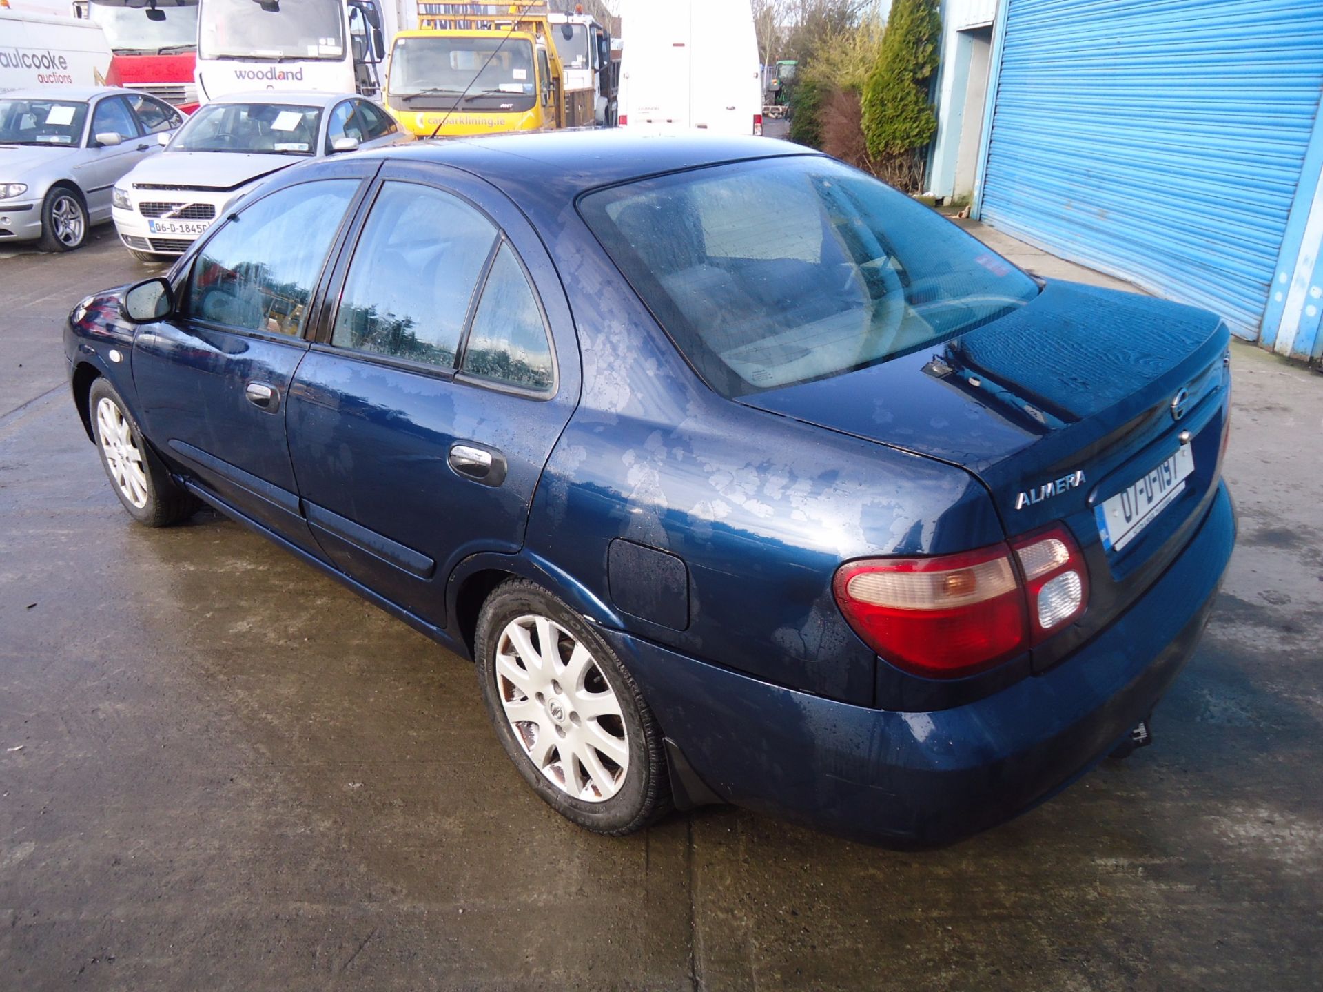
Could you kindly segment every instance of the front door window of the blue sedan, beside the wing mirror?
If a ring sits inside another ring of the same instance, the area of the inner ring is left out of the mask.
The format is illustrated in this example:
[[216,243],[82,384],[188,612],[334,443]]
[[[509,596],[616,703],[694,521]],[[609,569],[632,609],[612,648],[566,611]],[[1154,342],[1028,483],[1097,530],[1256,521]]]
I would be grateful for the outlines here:
[[269,335],[303,333],[308,300],[359,180],[302,183],[255,201],[198,253],[185,317]]

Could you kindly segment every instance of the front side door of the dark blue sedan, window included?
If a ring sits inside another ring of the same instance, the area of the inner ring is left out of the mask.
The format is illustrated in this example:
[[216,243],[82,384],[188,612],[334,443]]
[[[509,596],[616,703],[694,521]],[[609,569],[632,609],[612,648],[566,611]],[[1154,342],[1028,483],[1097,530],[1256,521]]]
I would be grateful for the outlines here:
[[147,435],[212,496],[307,550],[286,397],[331,249],[374,168],[323,171],[218,222],[181,274],[176,315],[134,340]]

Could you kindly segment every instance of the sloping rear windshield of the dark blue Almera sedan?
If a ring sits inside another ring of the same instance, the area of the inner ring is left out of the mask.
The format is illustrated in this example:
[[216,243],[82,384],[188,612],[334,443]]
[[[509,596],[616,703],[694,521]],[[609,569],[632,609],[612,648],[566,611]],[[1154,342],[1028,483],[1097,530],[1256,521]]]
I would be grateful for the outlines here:
[[579,212],[699,374],[729,397],[886,361],[1039,292],[933,210],[818,156],[611,186]]

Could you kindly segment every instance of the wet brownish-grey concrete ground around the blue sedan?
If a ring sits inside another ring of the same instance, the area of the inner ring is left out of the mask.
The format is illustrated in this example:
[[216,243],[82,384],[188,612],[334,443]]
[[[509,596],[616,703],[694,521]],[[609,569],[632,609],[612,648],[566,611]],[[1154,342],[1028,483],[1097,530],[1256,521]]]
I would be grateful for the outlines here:
[[58,337],[142,271],[106,231],[0,258],[0,987],[1323,987],[1316,374],[1234,348],[1241,541],[1155,746],[947,850],[609,840],[467,663],[218,516],[128,520]]

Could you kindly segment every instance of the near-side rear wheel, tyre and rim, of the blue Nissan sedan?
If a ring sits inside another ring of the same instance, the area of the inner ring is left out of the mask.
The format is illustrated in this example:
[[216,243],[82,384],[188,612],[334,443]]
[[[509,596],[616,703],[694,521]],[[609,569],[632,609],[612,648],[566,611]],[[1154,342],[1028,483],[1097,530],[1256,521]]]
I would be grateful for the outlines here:
[[669,808],[662,731],[615,652],[578,614],[512,579],[483,604],[475,655],[496,735],[561,816],[623,835]]

